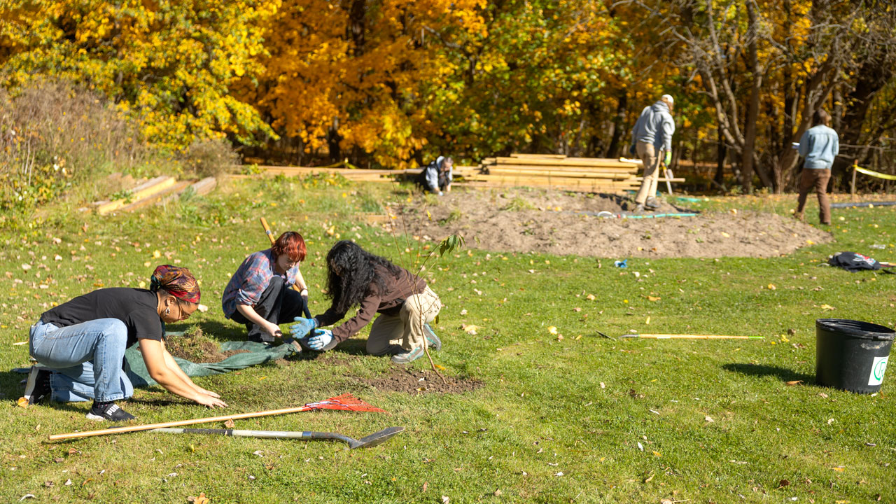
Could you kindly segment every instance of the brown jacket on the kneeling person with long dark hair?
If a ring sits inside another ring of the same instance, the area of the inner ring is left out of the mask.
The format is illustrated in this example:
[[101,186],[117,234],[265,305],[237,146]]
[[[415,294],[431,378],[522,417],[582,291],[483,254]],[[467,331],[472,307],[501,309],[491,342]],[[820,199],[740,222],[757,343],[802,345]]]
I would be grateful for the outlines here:
[[[426,281],[411,274],[408,270],[399,267],[401,274],[398,278],[389,273],[383,266],[375,266],[375,272],[383,278],[385,291],[380,292],[376,287],[376,283],[371,283],[367,291],[367,296],[361,300],[361,307],[358,315],[349,318],[339,327],[334,328],[333,338],[338,342],[344,342],[352,335],[358,333],[362,327],[370,323],[377,313],[384,315],[396,316],[401,311],[404,301],[414,294],[419,294],[426,289]],[[345,317],[345,312],[338,312],[335,308],[330,308],[314,318],[317,319],[318,326],[330,326]]]

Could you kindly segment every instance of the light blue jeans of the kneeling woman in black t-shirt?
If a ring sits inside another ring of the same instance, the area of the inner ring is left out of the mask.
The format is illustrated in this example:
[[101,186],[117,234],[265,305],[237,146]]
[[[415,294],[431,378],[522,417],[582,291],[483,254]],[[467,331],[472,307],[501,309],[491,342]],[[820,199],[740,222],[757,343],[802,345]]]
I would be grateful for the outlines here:
[[126,345],[127,327],[117,318],[66,327],[38,321],[31,326],[29,350],[31,357],[54,371],[53,401],[107,402],[134,395],[122,370]]

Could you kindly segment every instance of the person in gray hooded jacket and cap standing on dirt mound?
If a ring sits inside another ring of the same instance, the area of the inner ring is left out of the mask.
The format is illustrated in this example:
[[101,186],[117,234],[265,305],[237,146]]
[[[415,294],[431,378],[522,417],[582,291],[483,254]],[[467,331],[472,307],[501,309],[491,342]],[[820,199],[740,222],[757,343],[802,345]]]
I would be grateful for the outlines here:
[[664,94],[659,101],[645,107],[632,128],[632,148],[644,163],[644,177],[641,188],[634,196],[635,211],[657,210],[657,184],[659,183],[659,163],[667,167],[672,161],[672,134],[675,133],[675,121],[672,119],[672,108],[675,100]]

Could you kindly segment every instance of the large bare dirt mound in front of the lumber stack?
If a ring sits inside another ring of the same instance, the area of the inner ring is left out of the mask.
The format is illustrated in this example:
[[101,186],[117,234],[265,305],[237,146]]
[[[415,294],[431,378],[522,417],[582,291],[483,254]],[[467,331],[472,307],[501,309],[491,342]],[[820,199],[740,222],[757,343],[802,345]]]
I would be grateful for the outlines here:
[[[831,233],[776,213],[701,213],[695,217],[601,218],[627,213],[621,196],[543,189],[456,189],[427,205],[392,208],[396,231],[432,239],[461,234],[470,248],[597,257],[770,257],[832,240]],[[426,214],[429,212],[429,215]],[[663,202],[658,213],[690,213]],[[644,213],[650,215],[651,213]]]

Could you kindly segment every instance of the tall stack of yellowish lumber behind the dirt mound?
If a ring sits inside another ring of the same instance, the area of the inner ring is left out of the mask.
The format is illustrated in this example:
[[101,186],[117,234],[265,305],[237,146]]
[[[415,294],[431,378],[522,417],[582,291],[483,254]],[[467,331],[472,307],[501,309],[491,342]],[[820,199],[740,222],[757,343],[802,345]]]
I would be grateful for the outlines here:
[[472,186],[551,187],[563,190],[616,193],[637,189],[640,161],[568,158],[562,154],[511,154],[486,158],[479,173],[465,178]]

